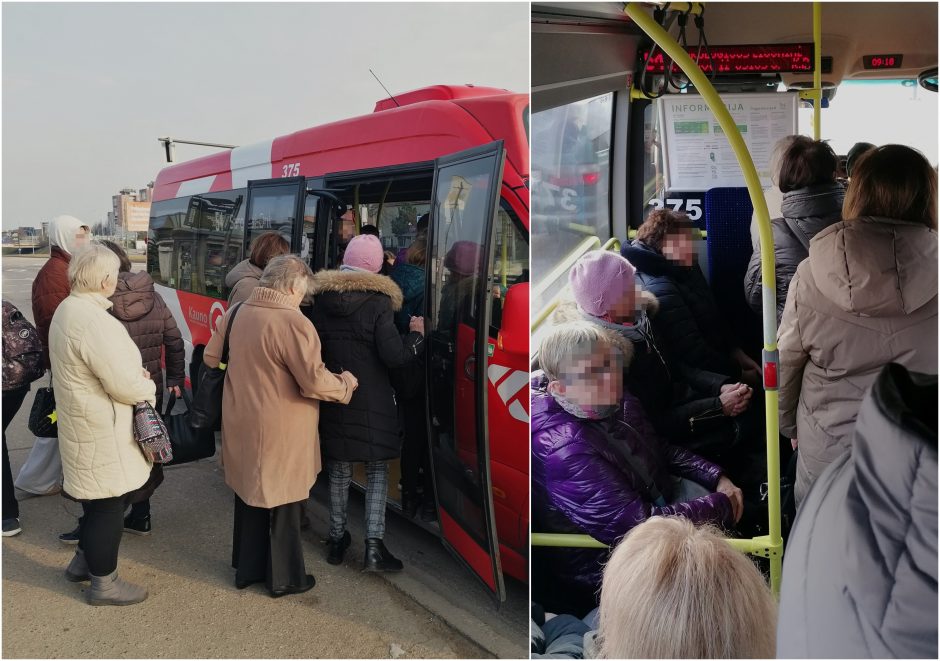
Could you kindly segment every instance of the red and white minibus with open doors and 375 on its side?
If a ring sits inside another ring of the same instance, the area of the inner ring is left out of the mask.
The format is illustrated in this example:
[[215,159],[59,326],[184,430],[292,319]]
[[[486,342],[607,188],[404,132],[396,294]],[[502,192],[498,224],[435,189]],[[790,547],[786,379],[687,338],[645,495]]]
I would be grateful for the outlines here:
[[[503,571],[528,575],[528,103],[438,85],[171,165],[156,179],[147,242],[194,374],[226,308],[225,275],[255,236],[280,232],[317,271],[336,266],[347,207],[393,251],[430,212],[425,377],[439,534],[500,600]],[[458,242],[476,248],[469,278],[445,259]]]

